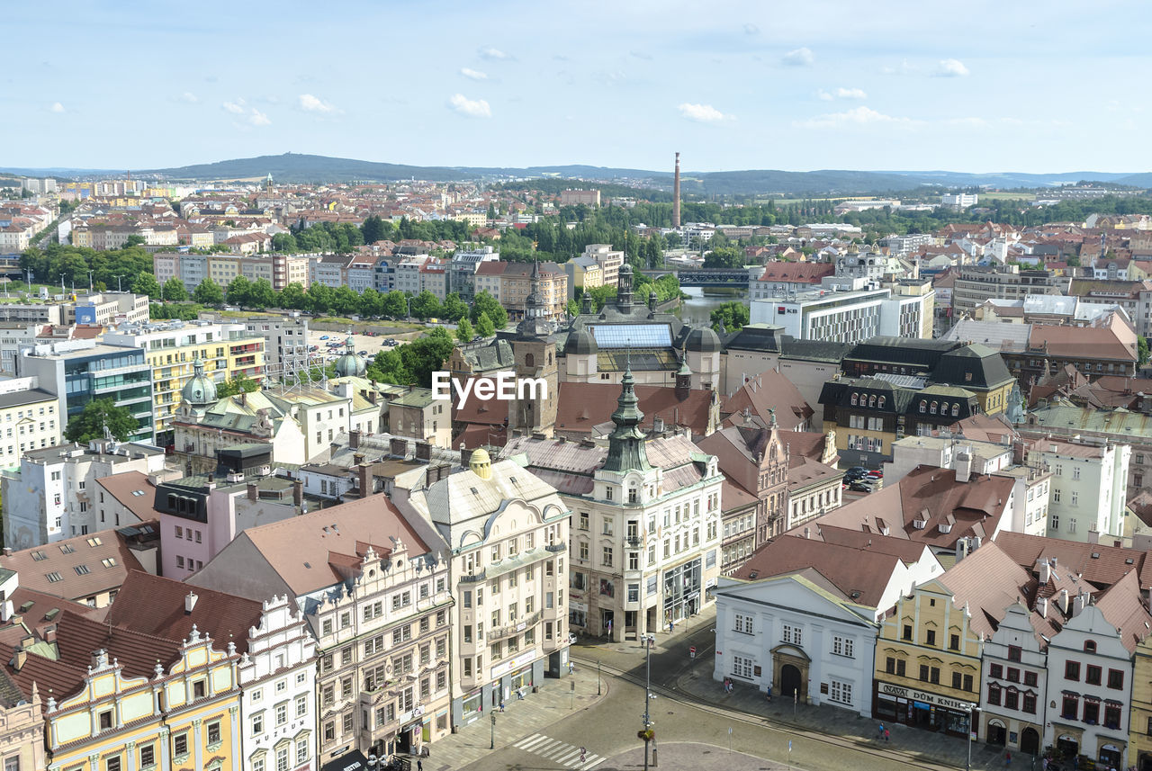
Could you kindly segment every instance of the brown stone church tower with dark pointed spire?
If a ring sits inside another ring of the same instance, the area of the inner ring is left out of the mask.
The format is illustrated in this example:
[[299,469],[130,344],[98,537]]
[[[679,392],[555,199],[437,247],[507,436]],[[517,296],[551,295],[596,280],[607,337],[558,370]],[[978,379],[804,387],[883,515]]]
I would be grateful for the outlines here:
[[[556,427],[556,404],[560,399],[560,375],[556,344],[552,339],[552,322],[540,293],[540,265],[532,265],[532,283],[524,301],[524,320],[516,327],[511,341],[516,358],[516,398],[508,403],[509,436],[543,434],[551,438]],[[544,381],[541,389],[521,389],[524,380]],[[547,394],[543,394],[546,390]],[[521,397],[524,398],[521,398]]]

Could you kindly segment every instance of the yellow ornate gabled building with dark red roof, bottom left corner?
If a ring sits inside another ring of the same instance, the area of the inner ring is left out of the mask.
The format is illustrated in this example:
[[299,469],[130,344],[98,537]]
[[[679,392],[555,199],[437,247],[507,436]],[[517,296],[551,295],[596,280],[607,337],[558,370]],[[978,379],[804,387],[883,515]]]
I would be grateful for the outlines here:
[[174,643],[66,611],[54,642],[25,643],[5,658],[6,673],[22,687],[53,686],[48,771],[243,768],[240,657],[195,626]]

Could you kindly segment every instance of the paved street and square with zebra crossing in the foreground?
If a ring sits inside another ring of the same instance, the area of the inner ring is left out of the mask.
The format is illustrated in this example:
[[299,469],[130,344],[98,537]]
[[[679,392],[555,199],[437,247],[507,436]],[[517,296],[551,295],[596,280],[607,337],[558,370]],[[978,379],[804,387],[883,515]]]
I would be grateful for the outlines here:
[[[650,717],[655,731],[654,768],[688,771],[880,771],[962,769],[962,740],[905,726],[889,726],[892,741],[876,739],[877,720],[833,708],[771,705],[752,688],[725,694],[711,677],[712,616],[700,616],[669,635],[657,635],[652,652]],[[688,655],[696,646],[697,657]],[[644,651],[636,642],[582,641],[573,648],[577,671],[545,680],[539,693],[513,700],[497,715],[495,749],[490,716],[432,745],[425,771],[468,766],[473,771],[632,771],[644,765],[636,732],[644,713]],[[605,673],[597,695],[596,663]],[[575,690],[571,684],[575,682]],[[789,751],[789,743],[791,750]],[[585,763],[579,764],[579,749]],[[973,769],[1001,766],[998,751],[973,743]],[[1028,771],[1031,758],[1018,765]]]

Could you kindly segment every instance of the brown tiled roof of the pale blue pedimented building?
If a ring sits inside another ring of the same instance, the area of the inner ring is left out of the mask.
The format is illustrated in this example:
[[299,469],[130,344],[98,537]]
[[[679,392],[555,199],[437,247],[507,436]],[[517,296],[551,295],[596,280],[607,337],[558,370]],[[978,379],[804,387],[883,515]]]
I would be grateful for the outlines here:
[[811,567],[844,600],[876,608],[899,564],[899,558],[881,551],[786,535],[752,552],[733,578],[764,579]]

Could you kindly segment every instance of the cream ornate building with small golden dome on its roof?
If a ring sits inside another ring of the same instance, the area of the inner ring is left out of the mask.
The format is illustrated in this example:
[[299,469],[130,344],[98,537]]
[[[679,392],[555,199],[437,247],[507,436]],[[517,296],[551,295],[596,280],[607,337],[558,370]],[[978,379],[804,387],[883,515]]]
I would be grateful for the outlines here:
[[554,487],[483,449],[433,481],[447,471],[407,490],[397,479],[392,498],[450,547],[452,723],[464,726],[567,672],[571,512]]

